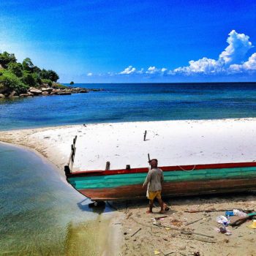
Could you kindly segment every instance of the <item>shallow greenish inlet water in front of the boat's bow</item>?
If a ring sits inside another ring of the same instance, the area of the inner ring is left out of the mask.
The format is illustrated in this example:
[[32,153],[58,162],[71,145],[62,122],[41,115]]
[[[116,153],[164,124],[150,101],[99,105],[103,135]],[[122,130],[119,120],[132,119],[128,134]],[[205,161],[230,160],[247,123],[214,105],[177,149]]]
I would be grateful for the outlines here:
[[0,192],[0,255],[98,255],[102,216],[45,159],[0,143]]

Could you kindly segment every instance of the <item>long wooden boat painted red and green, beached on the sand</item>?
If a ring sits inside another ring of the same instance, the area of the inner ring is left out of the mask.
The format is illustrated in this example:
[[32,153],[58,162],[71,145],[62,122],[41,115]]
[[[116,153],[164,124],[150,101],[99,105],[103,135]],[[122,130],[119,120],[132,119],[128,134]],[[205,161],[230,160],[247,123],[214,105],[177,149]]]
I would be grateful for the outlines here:
[[[74,139],[75,141],[75,139]],[[75,151],[75,143],[72,147]],[[75,155],[74,155],[75,157]],[[71,162],[72,159],[71,154]],[[256,162],[160,167],[165,181],[162,196],[206,195],[245,192],[256,189]],[[65,167],[67,181],[78,192],[94,201],[146,197],[142,184],[148,168],[89,170],[71,172]]]

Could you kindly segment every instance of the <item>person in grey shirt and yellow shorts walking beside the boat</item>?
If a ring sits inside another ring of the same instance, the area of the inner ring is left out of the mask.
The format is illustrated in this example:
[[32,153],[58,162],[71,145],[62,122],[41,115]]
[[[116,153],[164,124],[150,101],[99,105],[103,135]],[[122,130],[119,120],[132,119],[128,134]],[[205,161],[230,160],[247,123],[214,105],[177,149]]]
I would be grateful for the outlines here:
[[147,214],[152,214],[152,208],[154,204],[154,198],[157,198],[159,205],[161,206],[161,211],[159,214],[164,214],[164,203],[162,202],[161,198],[161,191],[162,191],[162,182],[164,181],[164,176],[162,174],[162,170],[157,167],[158,161],[157,159],[151,159],[148,161],[151,170],[148,171],[148,175],[143,183],[143,187],[148,185],[148,192],[147,197],[149,199],[149,210]]

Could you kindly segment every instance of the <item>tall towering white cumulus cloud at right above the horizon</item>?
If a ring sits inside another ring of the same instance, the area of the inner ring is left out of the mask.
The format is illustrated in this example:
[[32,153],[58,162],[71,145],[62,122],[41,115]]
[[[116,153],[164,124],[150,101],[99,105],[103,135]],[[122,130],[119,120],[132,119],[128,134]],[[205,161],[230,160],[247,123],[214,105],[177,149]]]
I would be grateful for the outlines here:
[[173,69],[170,74],[193,75],[202,73],[212,75],[228,73],[231,70],[232,72],[241,72],[238,64],[244,61],[246,53],[253,47],[252,42],[249,42],[249,37],[245,34],[238,34],[235,30],[232,30],[228,34],[227,43],[228,46],[219,54],[219,59],[204,57],[197,61],[192,60],[189,61],[189,66]]

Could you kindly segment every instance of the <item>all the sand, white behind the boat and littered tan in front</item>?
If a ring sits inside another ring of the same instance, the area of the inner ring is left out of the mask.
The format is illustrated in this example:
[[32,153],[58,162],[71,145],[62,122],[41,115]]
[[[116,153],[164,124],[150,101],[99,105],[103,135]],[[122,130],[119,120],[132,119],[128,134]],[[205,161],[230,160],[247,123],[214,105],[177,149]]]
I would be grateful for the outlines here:
[[[143,140],[147,131],[146,140]],[[256,160],[256,118],[200,120],[200,121],[148,121],[113,124],[84,124],[65,127],[12,130],[0,132],[0,140],[34,148],[47,157],[64,175],[64,165],[70,154],[72,139],[78,135],[74,170],[105,170],[110,161],[110,169],[146,167],[148,155],[159,159],[159,166],[194,165],[220,162],[250,162]],[[247,224],[225,236],[214,230],[216,217],[224,214],[184,213],[192,208],[255,208],[255,194],[228,195],[218,197],[183,197],[165,199],[171,206],[162,224],[175,223],[179,228],[187,222],[202,219],[188,228],[214,238],[187,236],[177,230],[155,227],[152,217],[146,214],[147,201],[118,203],[118,218],[111,225],[120,225],[121,236],[113,239],[113,244],[121,246],[116,255],[256,255],[255,230]],[[159,209],[154,209],[157,211]],[[121,213],[121,217],[120,217]],[[178,222],[171,222],[173,220]],[[119,223],[119,224],[117,224]],[[121,223],[121,224],[120,224]],[[131,237],[138,228],[142,228]],[[127,233],[127,235],[124,235]],[[204,241],[195,240],[195,238]],[[116,240],[117,239],[117,240]],[[211,243],[209,241],[214,241]],[[108,255],[108,252],[105,252]],[[113,252],[111,252],[113,255]]]

